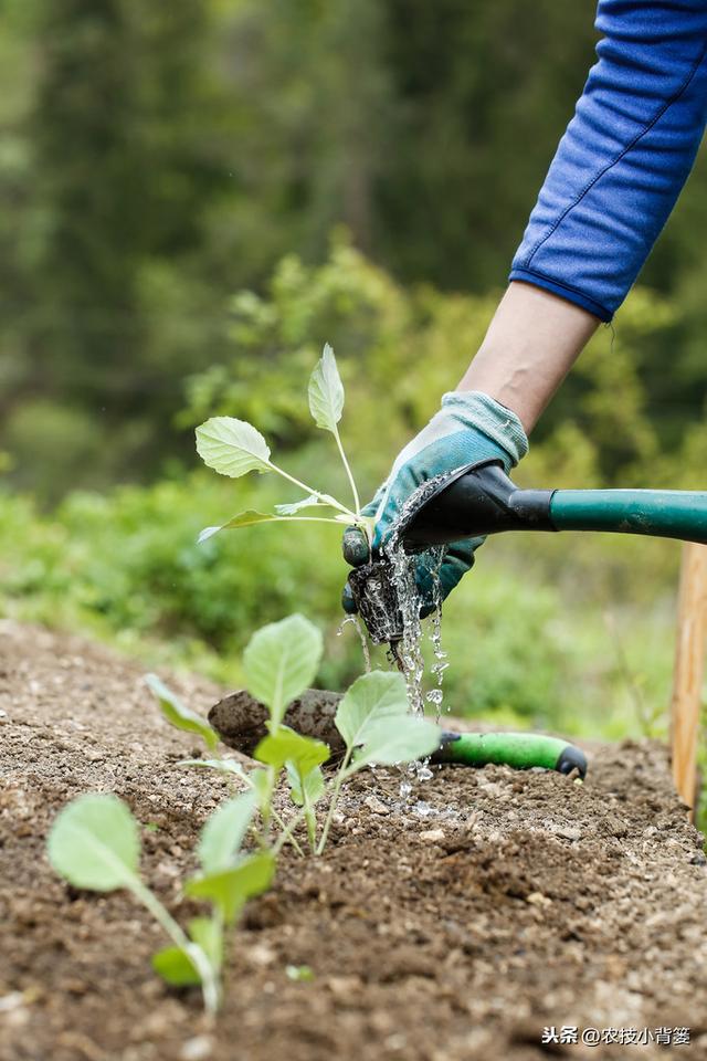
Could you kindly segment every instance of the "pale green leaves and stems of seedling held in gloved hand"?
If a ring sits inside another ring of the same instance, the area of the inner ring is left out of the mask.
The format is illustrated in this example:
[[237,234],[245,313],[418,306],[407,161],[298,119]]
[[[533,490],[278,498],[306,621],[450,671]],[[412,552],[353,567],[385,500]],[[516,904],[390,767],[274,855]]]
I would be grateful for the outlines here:
[[[349,484],[351,486],[354,507],[341,504],[330,494],[321,493],[314,486],[308,486],[279,468],[271,460],[271,450],[264,437],[253,424],[234,417],[211,417],[205,423],[197,428],[197,451],[209,468],[221,475],[239,479],[247,472],[276,472],[283,479],[299,487],[305,494],[300,501],[291,504],[275,505],[274,513],[255,512],[249,510],[233,516],[228,523],[217,527],[204,527],[199,535],[199,542],[205,542],[219,530],[235,530],[239,527],[250,527],[257,523],[275,521],[302,521],[316,523],[347,523],[361,527],[370,539],[372,518],[361,514],[358,490],[347,460],[339,433],[339,421],[344,410],[344,384],[339,376],[334,350],[327,344],[321,358],[309,379],[309,411],[318,428],[329,431],[336,439]],[[303,510],[328,510],[327,515],[307,515],[299,513]],[[334,513],[334,515],[331,515]]]

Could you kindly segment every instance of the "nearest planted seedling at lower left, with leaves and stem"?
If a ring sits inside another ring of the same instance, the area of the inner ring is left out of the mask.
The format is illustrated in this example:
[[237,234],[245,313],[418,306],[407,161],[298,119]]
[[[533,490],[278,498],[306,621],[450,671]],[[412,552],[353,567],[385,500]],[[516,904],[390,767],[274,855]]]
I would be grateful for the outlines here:
[[213,1015],[221,999],[224,929],[251,896],[270,887],[275,870],[271,852],[241,851],[254,812],[255,799],[246,794],[222,803],[203,827],[201,871],[186,881],[184,894],[209,902],[211,915],[191,918],[187,932],[143,882],[139,826],[116,796],[80,796],[64,807],[49,834],[49,860],[74,887],[131,892],[171,941],[154,956],[155,970],[171,986],[199,985]]

